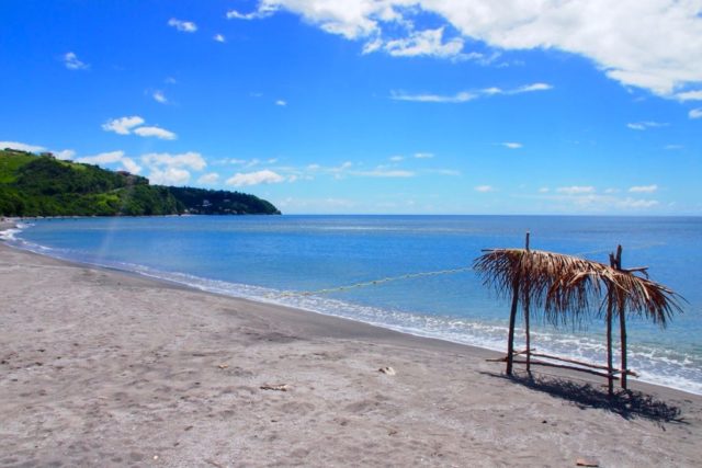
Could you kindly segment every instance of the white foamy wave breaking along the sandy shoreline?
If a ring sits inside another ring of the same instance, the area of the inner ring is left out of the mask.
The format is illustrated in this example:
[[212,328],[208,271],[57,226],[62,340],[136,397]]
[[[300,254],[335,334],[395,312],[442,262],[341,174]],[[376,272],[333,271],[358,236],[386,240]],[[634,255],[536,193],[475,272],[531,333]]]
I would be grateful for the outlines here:
[[[500,320],[472,320],[463,317],[437,316],[408,310],[373,307],[321,296],[308,296],[262,286],[211,279],[181,272],[165,272],[149,266],[127,262],[94,261],[82,252],[68,249],[52,249],[31,243],[16,235],[26,229],[9,229],[5,240],[15,247],[36,253],[95,266],[137,273],[143,276],[182,284],[208,293],[240,297],[260,303],[282,305],[297,309],[364,322],[417,336],[432,338],[460,344],[505,352],[507,326]],[[8,232],[11,231],[11,232]],[[516,333],[516,347],[524,346],[523,330]],[[550,332],[534,329],[532,345],[539,352],[602,364],[607,359],[604,341],[599,336]],[[629,347],[630,368],[639,374],[638,380],[677,388],[702,395],[702,357],[682,351],[661,349],[655,345],[632,343]],[[619,355],[614,355],[619,362]],[[615,366],[616,367],[616,366]]]

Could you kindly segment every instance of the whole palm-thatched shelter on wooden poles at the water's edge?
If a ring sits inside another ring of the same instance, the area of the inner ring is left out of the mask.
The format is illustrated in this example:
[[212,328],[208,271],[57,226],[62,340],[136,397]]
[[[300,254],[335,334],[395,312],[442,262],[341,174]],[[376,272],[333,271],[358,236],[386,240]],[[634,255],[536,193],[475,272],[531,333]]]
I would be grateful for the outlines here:
[[[486,286],[498,296],[511,297],[509,334],[507,341],[507,374],[512,375],[514,356],[524,354],[526,370],[531,372],[532,355],[575,364],[568,367],[605,376],[610,395],[613,379],[626,388],[626,376],[634,375],[626,364],[626,315],[637,315],[665,327],[675,312],[681,312],[672,289],[647,277],[646,267],[624,270],[621,265],[621,246],[610,254],[610,265],[575,255],[531,250],[529,233],[524,249],[490,249],[477,258],[474,269]],[[521,304],[524,313],[525,350],[514,351],[514,324]],[[531,309],[546,322],[563,326],[581,322],[593,315],[607,320],[607,366],[582,363],[558,356],[533,353],[530,336]],[[612,321],[619,317],[621,338],[621,366],[612,364]],[[547,363],[536,363],[548,365]],[[597,369],[597,370],[595,370]],[[605,370],[602,374],[601,370]],[[619,375],[619,377],[618,377]]]

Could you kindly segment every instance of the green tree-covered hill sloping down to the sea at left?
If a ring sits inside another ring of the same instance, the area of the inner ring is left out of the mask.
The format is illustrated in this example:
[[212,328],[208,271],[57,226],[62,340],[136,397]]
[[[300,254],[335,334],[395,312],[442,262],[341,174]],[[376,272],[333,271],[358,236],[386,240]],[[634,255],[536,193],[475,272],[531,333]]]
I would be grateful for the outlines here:
[[0,215],[149,216],[280,214],[239,192],[150,185],[146,178],[49,153],[0,150]]

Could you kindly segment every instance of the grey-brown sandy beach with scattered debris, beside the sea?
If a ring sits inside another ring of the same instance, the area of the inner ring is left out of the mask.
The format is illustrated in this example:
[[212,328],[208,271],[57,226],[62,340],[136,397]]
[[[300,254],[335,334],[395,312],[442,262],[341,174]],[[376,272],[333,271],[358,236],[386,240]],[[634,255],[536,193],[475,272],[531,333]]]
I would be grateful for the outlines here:
[[699,396],[610,404],[601,380],[1,243],[0,298],[3,467],[702,464]]

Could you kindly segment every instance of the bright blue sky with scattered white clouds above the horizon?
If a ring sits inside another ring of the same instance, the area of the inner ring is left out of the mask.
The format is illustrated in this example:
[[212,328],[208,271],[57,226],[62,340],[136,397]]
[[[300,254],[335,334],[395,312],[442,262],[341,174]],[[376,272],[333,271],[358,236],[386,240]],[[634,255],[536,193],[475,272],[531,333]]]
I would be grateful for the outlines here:
[[701,215],[701,12],[8,0],[0,146],[290,214]]

